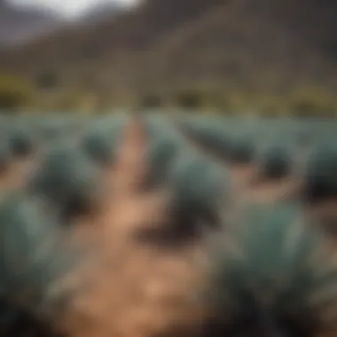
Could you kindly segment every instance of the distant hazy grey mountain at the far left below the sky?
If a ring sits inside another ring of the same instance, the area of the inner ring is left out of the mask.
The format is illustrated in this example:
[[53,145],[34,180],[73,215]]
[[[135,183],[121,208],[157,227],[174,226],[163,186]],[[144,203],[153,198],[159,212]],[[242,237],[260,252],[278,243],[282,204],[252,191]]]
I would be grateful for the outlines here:
[[29,41],[59,27],[59,18],[51,12],[19,8],[0,0],[0,45]]

